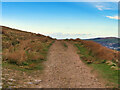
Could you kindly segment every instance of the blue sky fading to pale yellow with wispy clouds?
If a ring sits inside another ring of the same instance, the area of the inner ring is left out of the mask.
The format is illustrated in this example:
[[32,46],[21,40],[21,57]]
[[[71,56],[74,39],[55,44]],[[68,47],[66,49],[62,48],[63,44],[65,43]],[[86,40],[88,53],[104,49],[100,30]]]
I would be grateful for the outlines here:
[[53,38],[118,37],[117,2],[2,2],[2,25]]

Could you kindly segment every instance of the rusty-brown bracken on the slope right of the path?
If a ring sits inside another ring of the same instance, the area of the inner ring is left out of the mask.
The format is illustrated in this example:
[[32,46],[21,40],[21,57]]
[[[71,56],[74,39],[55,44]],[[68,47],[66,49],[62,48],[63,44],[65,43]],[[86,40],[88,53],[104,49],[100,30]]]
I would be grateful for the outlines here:
[[[90,54],[90,57],[88,56],[88,58],[83,58],[90,62],[94,62],[96,60],[112,60],[114,62],[118,61],[120,53],[119,51],[109,49],[94,41],[81,40],[79,38],[75,40],[70,39],[69,41],[74,41],[85,47],[88,50],[88,52],[86,53]],[[94,58],[92,58],[91,56],[93,56]]]

